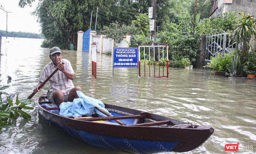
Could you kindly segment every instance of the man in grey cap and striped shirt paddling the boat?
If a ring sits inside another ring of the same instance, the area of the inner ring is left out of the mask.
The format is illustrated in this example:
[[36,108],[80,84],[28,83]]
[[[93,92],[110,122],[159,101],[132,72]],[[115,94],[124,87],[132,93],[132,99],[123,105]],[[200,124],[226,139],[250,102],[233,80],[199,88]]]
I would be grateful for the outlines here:
[[[76,91],[82,91],[82,89],[74,86],[72,82],[75,77],[74,70],[68,60],[62,59],[60,48],[51,48],[49,56],[52,61],[44,66],[39,77],[39,84],[33,92],[40,92],[42,88],[38,89],[38,87],[54,70],[59,69],[59,71],[57,71],[49,80],[50,89],[47,92],[49,101],[55,103],[59,107],[62,102],[72,102],[75,98],[78,98]],[[62,64],[62,62],[64,62],[64,64]]]

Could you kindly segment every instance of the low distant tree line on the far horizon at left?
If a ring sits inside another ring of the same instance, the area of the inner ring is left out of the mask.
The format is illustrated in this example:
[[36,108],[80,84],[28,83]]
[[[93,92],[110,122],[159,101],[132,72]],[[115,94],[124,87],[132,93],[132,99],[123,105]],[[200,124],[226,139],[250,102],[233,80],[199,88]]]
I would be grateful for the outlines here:
[[[6,37],[6,31],[0,30],[0,35]],[[32,39],[44,39],[42,34],[36,33],[25,33],[25,32],[8,32],[7,37],[21,37],[21,38],[32,38]]]

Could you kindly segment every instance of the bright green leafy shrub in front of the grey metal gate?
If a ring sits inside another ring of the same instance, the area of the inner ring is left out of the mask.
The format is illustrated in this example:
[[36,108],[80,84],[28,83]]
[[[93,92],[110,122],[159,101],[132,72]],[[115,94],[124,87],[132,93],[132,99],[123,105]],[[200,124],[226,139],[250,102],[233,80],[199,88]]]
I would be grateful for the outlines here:
[[207,63],[205,67],[217,72],[226,72],[231,63],[231,54],[225,54],[224,57],[222,57],[220,54],[217,54],[216,57],[211,57],[211,62]]

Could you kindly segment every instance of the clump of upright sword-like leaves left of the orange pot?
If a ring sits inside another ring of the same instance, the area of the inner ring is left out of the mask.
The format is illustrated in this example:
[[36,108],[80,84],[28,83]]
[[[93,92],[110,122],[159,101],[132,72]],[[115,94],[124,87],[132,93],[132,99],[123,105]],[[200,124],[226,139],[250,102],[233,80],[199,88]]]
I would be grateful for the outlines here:
[[233,75],[239,75],[244,67],[244,63],[242,61],[242,54],[241,51],[234,50],[234,55],[231,57],[232,62],[227,67],[228,72]]

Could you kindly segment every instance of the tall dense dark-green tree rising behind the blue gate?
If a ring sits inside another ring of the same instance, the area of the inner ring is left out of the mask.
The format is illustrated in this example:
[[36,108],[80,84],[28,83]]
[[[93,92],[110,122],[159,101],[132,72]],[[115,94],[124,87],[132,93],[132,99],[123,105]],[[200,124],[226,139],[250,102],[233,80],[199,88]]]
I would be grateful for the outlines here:
[[70,43],[76,46],[77,32],[89,29],[91,10],[108,3],[103,0],[41,0],[34,14],[46,38],[42,46],[64,49],[69,49]]

